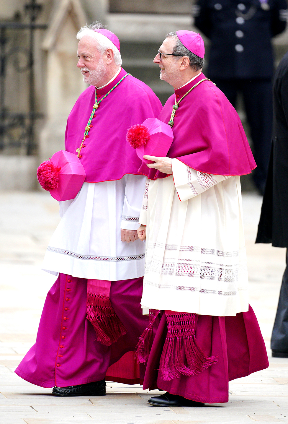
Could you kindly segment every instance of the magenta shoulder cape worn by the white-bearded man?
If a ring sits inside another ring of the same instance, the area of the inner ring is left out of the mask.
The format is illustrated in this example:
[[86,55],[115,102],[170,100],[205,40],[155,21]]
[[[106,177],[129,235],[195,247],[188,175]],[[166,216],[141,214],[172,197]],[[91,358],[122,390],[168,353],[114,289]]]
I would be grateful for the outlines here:
[[[126,75],[119,75],[108,86],[97,90],[97,101]],[[95,103],[95,87],[89,86],[76,101],[69,114],[65,134],[65,149],[76,153]],[[142,81],[128,75],[100,103],[92,119],[81,149],[80,161],[86,172],[86,182],[121,179],[125,174],[138,174],[141,160],[127,143],[127,129],[145,119],[157,117],[162,109],[160,100]],[[145,165],[146,166],[146,165]]]

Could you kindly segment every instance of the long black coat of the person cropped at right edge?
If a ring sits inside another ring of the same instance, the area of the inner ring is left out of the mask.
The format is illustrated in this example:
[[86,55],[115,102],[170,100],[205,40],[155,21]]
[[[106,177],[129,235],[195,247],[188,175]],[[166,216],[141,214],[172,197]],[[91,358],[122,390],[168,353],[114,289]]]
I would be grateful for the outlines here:
[[273,141],[256,243],[288,248],[288,52],[273,84]]

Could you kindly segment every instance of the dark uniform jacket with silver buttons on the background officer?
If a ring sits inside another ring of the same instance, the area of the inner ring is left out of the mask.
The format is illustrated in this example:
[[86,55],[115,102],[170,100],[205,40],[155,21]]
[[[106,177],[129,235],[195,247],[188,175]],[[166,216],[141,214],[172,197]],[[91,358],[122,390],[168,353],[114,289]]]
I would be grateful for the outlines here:
[[209,78],[271,78],[271,38],[284,31],[286,9],[286,0],[198,0],[195,25],[211,40]]

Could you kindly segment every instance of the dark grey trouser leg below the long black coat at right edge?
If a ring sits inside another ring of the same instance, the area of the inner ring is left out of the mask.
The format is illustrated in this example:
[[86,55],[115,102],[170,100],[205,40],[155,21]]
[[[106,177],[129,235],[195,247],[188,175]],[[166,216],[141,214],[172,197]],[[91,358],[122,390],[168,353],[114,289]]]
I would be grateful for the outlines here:
[[288,254],[283,274],[276,318],[271,337],[271,349],[274,352],[288,353]]

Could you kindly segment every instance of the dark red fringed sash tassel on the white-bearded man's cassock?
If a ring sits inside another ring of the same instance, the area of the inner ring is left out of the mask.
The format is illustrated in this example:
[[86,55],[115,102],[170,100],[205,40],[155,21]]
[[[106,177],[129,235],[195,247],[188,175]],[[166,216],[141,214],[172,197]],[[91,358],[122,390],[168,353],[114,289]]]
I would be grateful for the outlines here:
[[96,332],[97,341],[110,346],[126,334],[125,326],[117,317],[109,295],[87,291],[87,318]]

